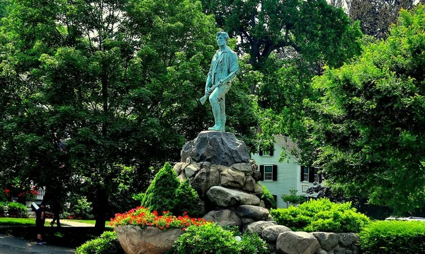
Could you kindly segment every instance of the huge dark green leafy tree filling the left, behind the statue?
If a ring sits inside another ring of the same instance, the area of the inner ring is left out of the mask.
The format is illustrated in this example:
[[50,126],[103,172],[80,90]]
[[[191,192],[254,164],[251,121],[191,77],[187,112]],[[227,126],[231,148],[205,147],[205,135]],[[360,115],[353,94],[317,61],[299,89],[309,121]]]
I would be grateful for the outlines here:
[[[193,0],[16,1],[0,33],[1,171],[86,190],[102,231],[112,195],[142,191],[212,121],[197,99],[215,31]],[[246,138],[250,105],[229,119]]]

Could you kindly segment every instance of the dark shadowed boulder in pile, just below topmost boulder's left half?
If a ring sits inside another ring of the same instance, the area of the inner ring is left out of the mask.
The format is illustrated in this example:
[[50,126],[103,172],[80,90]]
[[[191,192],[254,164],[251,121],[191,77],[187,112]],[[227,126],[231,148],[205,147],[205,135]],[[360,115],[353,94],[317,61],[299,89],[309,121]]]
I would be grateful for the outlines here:
[[195,177],[191,180],[193,189],[198,192],[200,198],[205,197],[205,194],[213,186],[217,186],[220,182],[220,172],[214,168],[203,168],[198,171]]

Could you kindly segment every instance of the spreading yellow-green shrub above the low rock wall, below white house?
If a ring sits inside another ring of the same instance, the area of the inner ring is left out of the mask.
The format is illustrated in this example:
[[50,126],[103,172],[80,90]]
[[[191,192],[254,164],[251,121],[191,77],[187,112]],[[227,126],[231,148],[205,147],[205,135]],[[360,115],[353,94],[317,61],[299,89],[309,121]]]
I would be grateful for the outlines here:
[[351,207],[351,202],[336,204],[329,199],[311,200],[288,209],[272,209],[270,214],[279,225],[293,231],[358,233],[370,223],[367,216]]

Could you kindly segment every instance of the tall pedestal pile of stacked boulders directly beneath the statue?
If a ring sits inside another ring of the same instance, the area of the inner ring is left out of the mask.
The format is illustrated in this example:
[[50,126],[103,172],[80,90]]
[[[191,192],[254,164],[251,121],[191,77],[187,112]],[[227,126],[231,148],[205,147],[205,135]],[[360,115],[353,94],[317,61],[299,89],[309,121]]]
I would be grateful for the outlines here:
[[271,218],[260,197],[261,174],[243,141],[232,133],[203,131],[181,150],[174,165],[179,180],[189,180],[202,201],[204,219],[244,228]]

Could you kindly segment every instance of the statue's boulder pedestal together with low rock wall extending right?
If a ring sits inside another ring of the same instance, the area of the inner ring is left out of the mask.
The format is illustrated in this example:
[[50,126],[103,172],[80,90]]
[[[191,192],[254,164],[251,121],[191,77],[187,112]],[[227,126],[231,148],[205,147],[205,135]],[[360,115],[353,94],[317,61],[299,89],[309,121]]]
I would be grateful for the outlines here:
[[273,253],[358,254],[354,233],[294,232],[277,225],[261,200],[261,173],[243,141],[232,133],[203,131],[181,150],[179,180],[198,192],[203,219],[256,233]]

